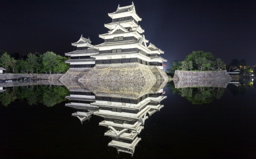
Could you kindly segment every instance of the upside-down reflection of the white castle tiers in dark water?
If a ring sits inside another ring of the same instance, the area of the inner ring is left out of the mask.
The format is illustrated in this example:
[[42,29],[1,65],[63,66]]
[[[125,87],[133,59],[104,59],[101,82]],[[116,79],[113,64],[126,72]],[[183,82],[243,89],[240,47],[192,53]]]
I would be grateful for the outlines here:
[[[151,116],[163,108],[160,101],[164,100],[166,96],[163,96],[161,88],[153,88],[158,90],[155,93],[152,93],[152,89],[147,91],[145,89],[138,90],[136,87],[129,89],[130,91],[127,93],[122,90],[122,93],[118,94],[118,91],[109,91],[113,89],[108,87],[98,87],[94,93],[88,89],[73,87],[70,88],[70,96],[66,97],[71,102],[65,106],[77,109],[72,116],[79,118],[81,123],[89,120],[93,114],[104,118],[104,121],[99,124],[108,127],[104,134],[112,137],[112,141],[108,145],[116,148],[118,153],[125,152],[133,156],[135,147],[141,140],[138,135],[148,119],[147,114]],[[108,90],[109,93],[99,90]],[[151,93],[138,96],[142,92]]]

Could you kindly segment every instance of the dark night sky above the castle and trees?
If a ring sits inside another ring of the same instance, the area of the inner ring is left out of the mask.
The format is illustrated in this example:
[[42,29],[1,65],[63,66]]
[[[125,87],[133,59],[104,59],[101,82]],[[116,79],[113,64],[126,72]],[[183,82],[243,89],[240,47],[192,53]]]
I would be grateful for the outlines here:
[[[81,34],[94,44],[112,22],[108,13],[131,1],[0,1],[0,50],[64,55]],[[171,61],[193,50],[256,65],[256,1],[134,0],[146,39]]]

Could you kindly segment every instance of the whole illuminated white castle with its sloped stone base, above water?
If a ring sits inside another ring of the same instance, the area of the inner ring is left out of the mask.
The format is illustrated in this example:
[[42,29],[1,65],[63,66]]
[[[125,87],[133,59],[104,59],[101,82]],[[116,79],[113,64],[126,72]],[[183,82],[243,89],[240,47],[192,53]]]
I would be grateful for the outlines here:
[[118,5],[117,11],[108,15],[112,18],[112,23],[105,24],[109,31],[99,35],[105,42],[94,45],[89,38],[81,36],[72,43],[76,50],[65,53],[71,59],[66,61],[69,70],[61,80],[150,80],[153,83],[168,80],[163,71],[163,62],[167,60],[160,57],[164,51],[151,43],[147,45],[144,30],[138,23],[142,19],[136,14],[134,4]]

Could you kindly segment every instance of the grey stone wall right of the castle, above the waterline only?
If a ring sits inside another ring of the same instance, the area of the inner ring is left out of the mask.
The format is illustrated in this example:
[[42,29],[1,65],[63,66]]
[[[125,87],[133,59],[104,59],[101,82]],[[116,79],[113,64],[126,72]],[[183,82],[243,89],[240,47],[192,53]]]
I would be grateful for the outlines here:
[[175,80],[211,80],[211,79],[229,79],[228,72],[224,71],[180,71],[176,70],[174,74]]

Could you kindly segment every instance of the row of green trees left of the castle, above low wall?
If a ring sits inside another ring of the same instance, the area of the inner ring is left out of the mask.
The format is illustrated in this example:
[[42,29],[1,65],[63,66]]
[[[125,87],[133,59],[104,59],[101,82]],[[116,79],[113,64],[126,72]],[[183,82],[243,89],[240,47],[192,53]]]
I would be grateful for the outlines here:
[[8,54],[0,50],[0,66],[13,73],[65,73],[68,71],[69,64],[65,63],[69,58],[57,55],[52,51],[44,54],[29,53],[21,55],[18,53]]

